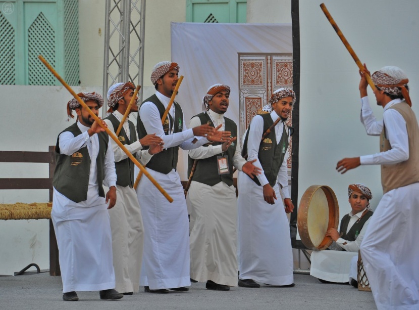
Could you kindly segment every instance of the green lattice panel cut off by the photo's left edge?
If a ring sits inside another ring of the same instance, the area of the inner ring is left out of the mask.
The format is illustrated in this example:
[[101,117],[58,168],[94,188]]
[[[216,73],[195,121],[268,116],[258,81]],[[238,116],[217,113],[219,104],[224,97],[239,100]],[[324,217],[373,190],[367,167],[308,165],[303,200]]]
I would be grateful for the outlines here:
[[16,83],[15,66],[15,30],[9,21],[0,12],[0,84],[13,85]]

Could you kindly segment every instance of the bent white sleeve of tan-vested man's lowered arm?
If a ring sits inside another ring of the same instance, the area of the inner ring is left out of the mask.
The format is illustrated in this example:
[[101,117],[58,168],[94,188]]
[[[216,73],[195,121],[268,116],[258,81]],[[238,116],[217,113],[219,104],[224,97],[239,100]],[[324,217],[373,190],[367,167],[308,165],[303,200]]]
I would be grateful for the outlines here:
[[391,150],[360,156],[362,165],[396,164],[409,159],[409,139],[403,116],[395,109],[387,109],[383,119]]

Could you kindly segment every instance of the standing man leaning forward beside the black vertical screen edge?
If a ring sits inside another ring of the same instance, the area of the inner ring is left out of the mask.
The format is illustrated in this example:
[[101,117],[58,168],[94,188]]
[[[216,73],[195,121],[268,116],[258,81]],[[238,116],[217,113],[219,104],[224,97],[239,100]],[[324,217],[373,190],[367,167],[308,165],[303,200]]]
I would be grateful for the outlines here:
[[[239,281],[241,287],[257,288],[261,282],[294,286],[293,256],[288,218],[294,205],[288,191],[287,158],[291,128],[285,121],[295,93],[280,88],[270,98],[270,114],[256,115],[250,122],[243,153],[264,173],[253,180],[238,176]],[[278,120],[278,123],[271,128]],[[270,131],[268,132],[268,129]],[[267,135],[264,137],[264,133]],[[281,200],[280,187],[284,195]]]

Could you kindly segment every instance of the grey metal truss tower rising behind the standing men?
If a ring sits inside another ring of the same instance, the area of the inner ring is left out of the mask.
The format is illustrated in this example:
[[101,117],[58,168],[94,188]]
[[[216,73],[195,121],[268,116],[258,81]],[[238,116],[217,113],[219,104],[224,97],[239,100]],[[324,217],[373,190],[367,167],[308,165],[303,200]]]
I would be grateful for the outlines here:
[[[142,85],[144,66],[145,0],[106,0],[104,29],[102,116],[111,85],[131,81]],[[142,92],[138,94],[142,102]]]

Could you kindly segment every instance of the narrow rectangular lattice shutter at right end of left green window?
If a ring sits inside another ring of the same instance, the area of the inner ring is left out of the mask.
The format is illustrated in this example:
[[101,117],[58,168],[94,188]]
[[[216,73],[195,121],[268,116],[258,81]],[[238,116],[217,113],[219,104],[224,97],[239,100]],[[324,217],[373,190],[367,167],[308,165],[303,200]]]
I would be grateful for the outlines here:
[[80,84],[78,0],[64,2],[64,70],[66,82]]

